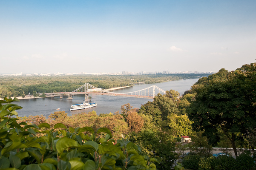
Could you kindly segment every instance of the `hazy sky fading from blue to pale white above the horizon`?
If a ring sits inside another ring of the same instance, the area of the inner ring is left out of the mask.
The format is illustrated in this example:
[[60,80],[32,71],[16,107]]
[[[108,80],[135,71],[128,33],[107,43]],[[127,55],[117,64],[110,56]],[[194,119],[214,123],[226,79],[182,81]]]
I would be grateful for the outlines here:
[[256,62],[256,0],[0,0],[0,74],[217,72]]

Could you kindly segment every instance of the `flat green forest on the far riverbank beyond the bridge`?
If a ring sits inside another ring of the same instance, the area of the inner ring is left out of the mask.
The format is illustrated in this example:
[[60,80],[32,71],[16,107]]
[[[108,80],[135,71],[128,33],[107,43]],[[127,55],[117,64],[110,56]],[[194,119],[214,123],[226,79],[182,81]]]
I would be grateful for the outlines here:
[[[0,97],[22,94],[74,91],[84,83],[97,88],[134,85],[138,82],[160,83],[178,79],[208,77],[210,74],[156,74],[156,75],[73,75],[73,76],[5,76],[0,77]],[[24,92],[24,93],[23,93]]]

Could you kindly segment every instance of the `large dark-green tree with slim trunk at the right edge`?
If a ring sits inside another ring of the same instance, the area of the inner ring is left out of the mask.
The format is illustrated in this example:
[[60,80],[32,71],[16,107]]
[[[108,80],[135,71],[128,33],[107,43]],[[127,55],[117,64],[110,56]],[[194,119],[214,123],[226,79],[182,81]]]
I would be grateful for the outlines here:
[[227,73],[221,69],[192,88],[196,100],[191,103],[188,116],[193,127],[204,130],[212,144],[217,144],[220,133],[226,135],[236,156],[236,140],[256,127],[255,64],[243,71]]

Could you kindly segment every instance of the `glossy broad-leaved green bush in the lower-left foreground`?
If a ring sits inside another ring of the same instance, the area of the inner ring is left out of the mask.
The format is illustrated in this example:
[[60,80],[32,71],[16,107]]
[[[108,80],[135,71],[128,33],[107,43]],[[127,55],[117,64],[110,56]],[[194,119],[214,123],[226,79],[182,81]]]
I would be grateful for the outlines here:
[[132,142],[115,142],[107,128],[95,132],[57,123],[50,130],[48,123],[18,124],[12,116],[22,107],[14,101],[18,99],[0,100],[0,169],[156,170],[156,159],[139,155],[140,148]]

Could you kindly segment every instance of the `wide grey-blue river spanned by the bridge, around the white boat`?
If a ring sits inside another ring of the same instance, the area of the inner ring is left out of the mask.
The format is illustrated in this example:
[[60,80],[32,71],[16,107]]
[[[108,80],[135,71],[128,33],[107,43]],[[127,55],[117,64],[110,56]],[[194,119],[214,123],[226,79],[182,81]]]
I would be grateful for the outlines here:
[[[182,79],[177,81],[170,82],[162,82],[155,84],[138,84],[129,88],[123,88],[119,90],[115,90],[117,93],[125,93],[138,91],[152,85],[156,85],[164,91],[167,90],[175,90],[178,91],[181,95],[184,94],[185,91],[189,90],[191,86],[197,82],[198,79]],[[49,116],[51,113],[57,111],[57,108],[60,108],[58,111],[65,111],[68,115],[96,111],[97,114],[100,113],[115,113],[116,111],[121,111],[121,105],[131,104],[134,108],[140,108],[141,104],[144,104],[148,101],[152,101],[152,99],[140,99],[133,97],[120,97],[120,96],[105,96],[105,95],[96,95],[90,94],[92,97],[91,102],[97,102],[97,106],[89,109],[82,109],[78,111],[69,111],[70,106],[78,103],[83,103],[85,96],[84,95],[75,95],[72,96],[72,100],[66,100],[67,96],[63,96],[63,99],[60,99],[59,96],[55,98],[37,98],[37,99],[22,99],[20,102],[17,102],[17,105],[23,107],[21,110],[17,110],[18,116],[35,116],[35,115],[43,115]]]

